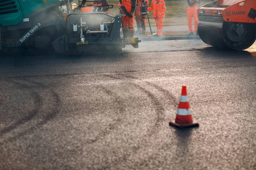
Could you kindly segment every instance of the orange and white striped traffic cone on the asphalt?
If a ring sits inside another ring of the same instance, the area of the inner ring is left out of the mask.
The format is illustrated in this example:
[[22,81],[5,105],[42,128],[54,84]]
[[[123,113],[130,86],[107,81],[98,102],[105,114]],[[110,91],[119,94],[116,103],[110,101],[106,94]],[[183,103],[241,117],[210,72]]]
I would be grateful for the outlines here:
[[186,92],[186,86],[182,86],[180,103],[176,114],[175,122],[169,122],[170,126],[175,127],[198,127],[198,123],[193,123],[191,110],[189,107],[189,99]]

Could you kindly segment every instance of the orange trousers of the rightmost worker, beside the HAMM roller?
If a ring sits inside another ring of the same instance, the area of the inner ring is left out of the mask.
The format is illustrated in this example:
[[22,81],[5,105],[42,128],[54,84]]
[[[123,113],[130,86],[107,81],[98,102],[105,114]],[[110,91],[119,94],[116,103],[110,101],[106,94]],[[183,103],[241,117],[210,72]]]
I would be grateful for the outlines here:
[[192,17],[193,17],[195,21],[195,32],[196,32],[198,30],[198,14],[197,14],[196,3],[192,7],[188,6],[187,16],[188,16],[189,31],[193,32],[193,25],[192,25]]

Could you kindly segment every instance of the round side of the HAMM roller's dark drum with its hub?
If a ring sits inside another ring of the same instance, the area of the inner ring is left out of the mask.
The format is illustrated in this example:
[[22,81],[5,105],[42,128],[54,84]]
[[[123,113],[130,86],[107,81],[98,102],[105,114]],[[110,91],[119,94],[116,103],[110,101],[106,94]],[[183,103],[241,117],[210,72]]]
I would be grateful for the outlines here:
[[223,22],[222,33],[228,47],[244,50],[256,40],[256,24]]

